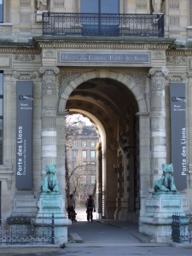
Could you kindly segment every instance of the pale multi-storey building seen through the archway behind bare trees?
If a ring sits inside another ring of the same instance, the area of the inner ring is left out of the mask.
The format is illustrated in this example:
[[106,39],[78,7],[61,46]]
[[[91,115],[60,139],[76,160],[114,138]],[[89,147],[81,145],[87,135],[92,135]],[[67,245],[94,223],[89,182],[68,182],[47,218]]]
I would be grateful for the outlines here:
[[79,123],[67,137],[67,167],[70,194],[76,201],[86,201],[96,195],[96,144],[98,135],[94,125]]

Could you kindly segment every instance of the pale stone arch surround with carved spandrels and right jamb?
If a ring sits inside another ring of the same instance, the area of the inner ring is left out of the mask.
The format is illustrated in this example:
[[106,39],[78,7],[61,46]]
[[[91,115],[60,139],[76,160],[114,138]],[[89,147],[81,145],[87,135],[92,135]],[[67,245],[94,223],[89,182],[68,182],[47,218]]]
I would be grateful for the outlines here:
[[[148,188],[150,187],[150,155],[143,155],[143,143],[145,144],[145,152],[150,151],[150,121],[148,116],[148,104],[146,96],[148,93],[148,72],[145,70],[131,71],[113,71],[108,68],[93,68],[89,70],[84,69],[69,69],[64,72],[61,71],[59,78],[59,99],[58,99],[58,113],[65,112],[67,100],[73,94],[80,84],[86,83],[91,79],[112,79],[113,81],[123,84],[126,90],[131,91],[137,102],[137,117],[139,118],[139,172],[140,172],[140,204],[141,211],[144,211],[143,201],[148,197]],[[84,95],[85,96],[85,95]],[[144,129],[143,129],[144,127]],[[107,143],[108,147],[108,143]],[[105,152],[104,152],[105,154]],[[112,156],[112,154],[111,154]],[[146,165],[147,163],[147,165]],[[142,167],[141,167],[142,166]],[[145,166],[148,166],[145,169]],[[140,171],[142,170],[142,172]],[[141,193],[142,189],[142,193]],[[142,196],[141,196],[142,195]],[[110,215],[110,214],[109,214]],[[110,215],[111,216],[111,215]]]

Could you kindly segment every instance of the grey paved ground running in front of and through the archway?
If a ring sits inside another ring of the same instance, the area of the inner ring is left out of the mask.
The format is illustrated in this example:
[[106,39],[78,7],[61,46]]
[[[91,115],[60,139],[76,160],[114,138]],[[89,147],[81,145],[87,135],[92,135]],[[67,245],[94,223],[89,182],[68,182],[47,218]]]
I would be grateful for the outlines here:
[[[68,228],[69,241],[65,247],[2,247],[0,255],[46,255],[46,256],[189,256],[192,245],[152,243],[148,236],[137,231],[137,225],[119,221],[86,221],[85,210],[77,210],[78,222]],[[96,217],[96,214],[94,214]]]

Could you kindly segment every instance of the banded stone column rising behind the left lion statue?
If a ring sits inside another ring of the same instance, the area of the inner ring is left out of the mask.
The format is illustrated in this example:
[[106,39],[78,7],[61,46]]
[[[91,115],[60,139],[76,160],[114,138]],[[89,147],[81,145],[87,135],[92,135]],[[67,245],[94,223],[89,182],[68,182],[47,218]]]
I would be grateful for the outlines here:
[[56,86],[57,67],[41,67],[42,76],[42,173],[46,164],[56,164]]

